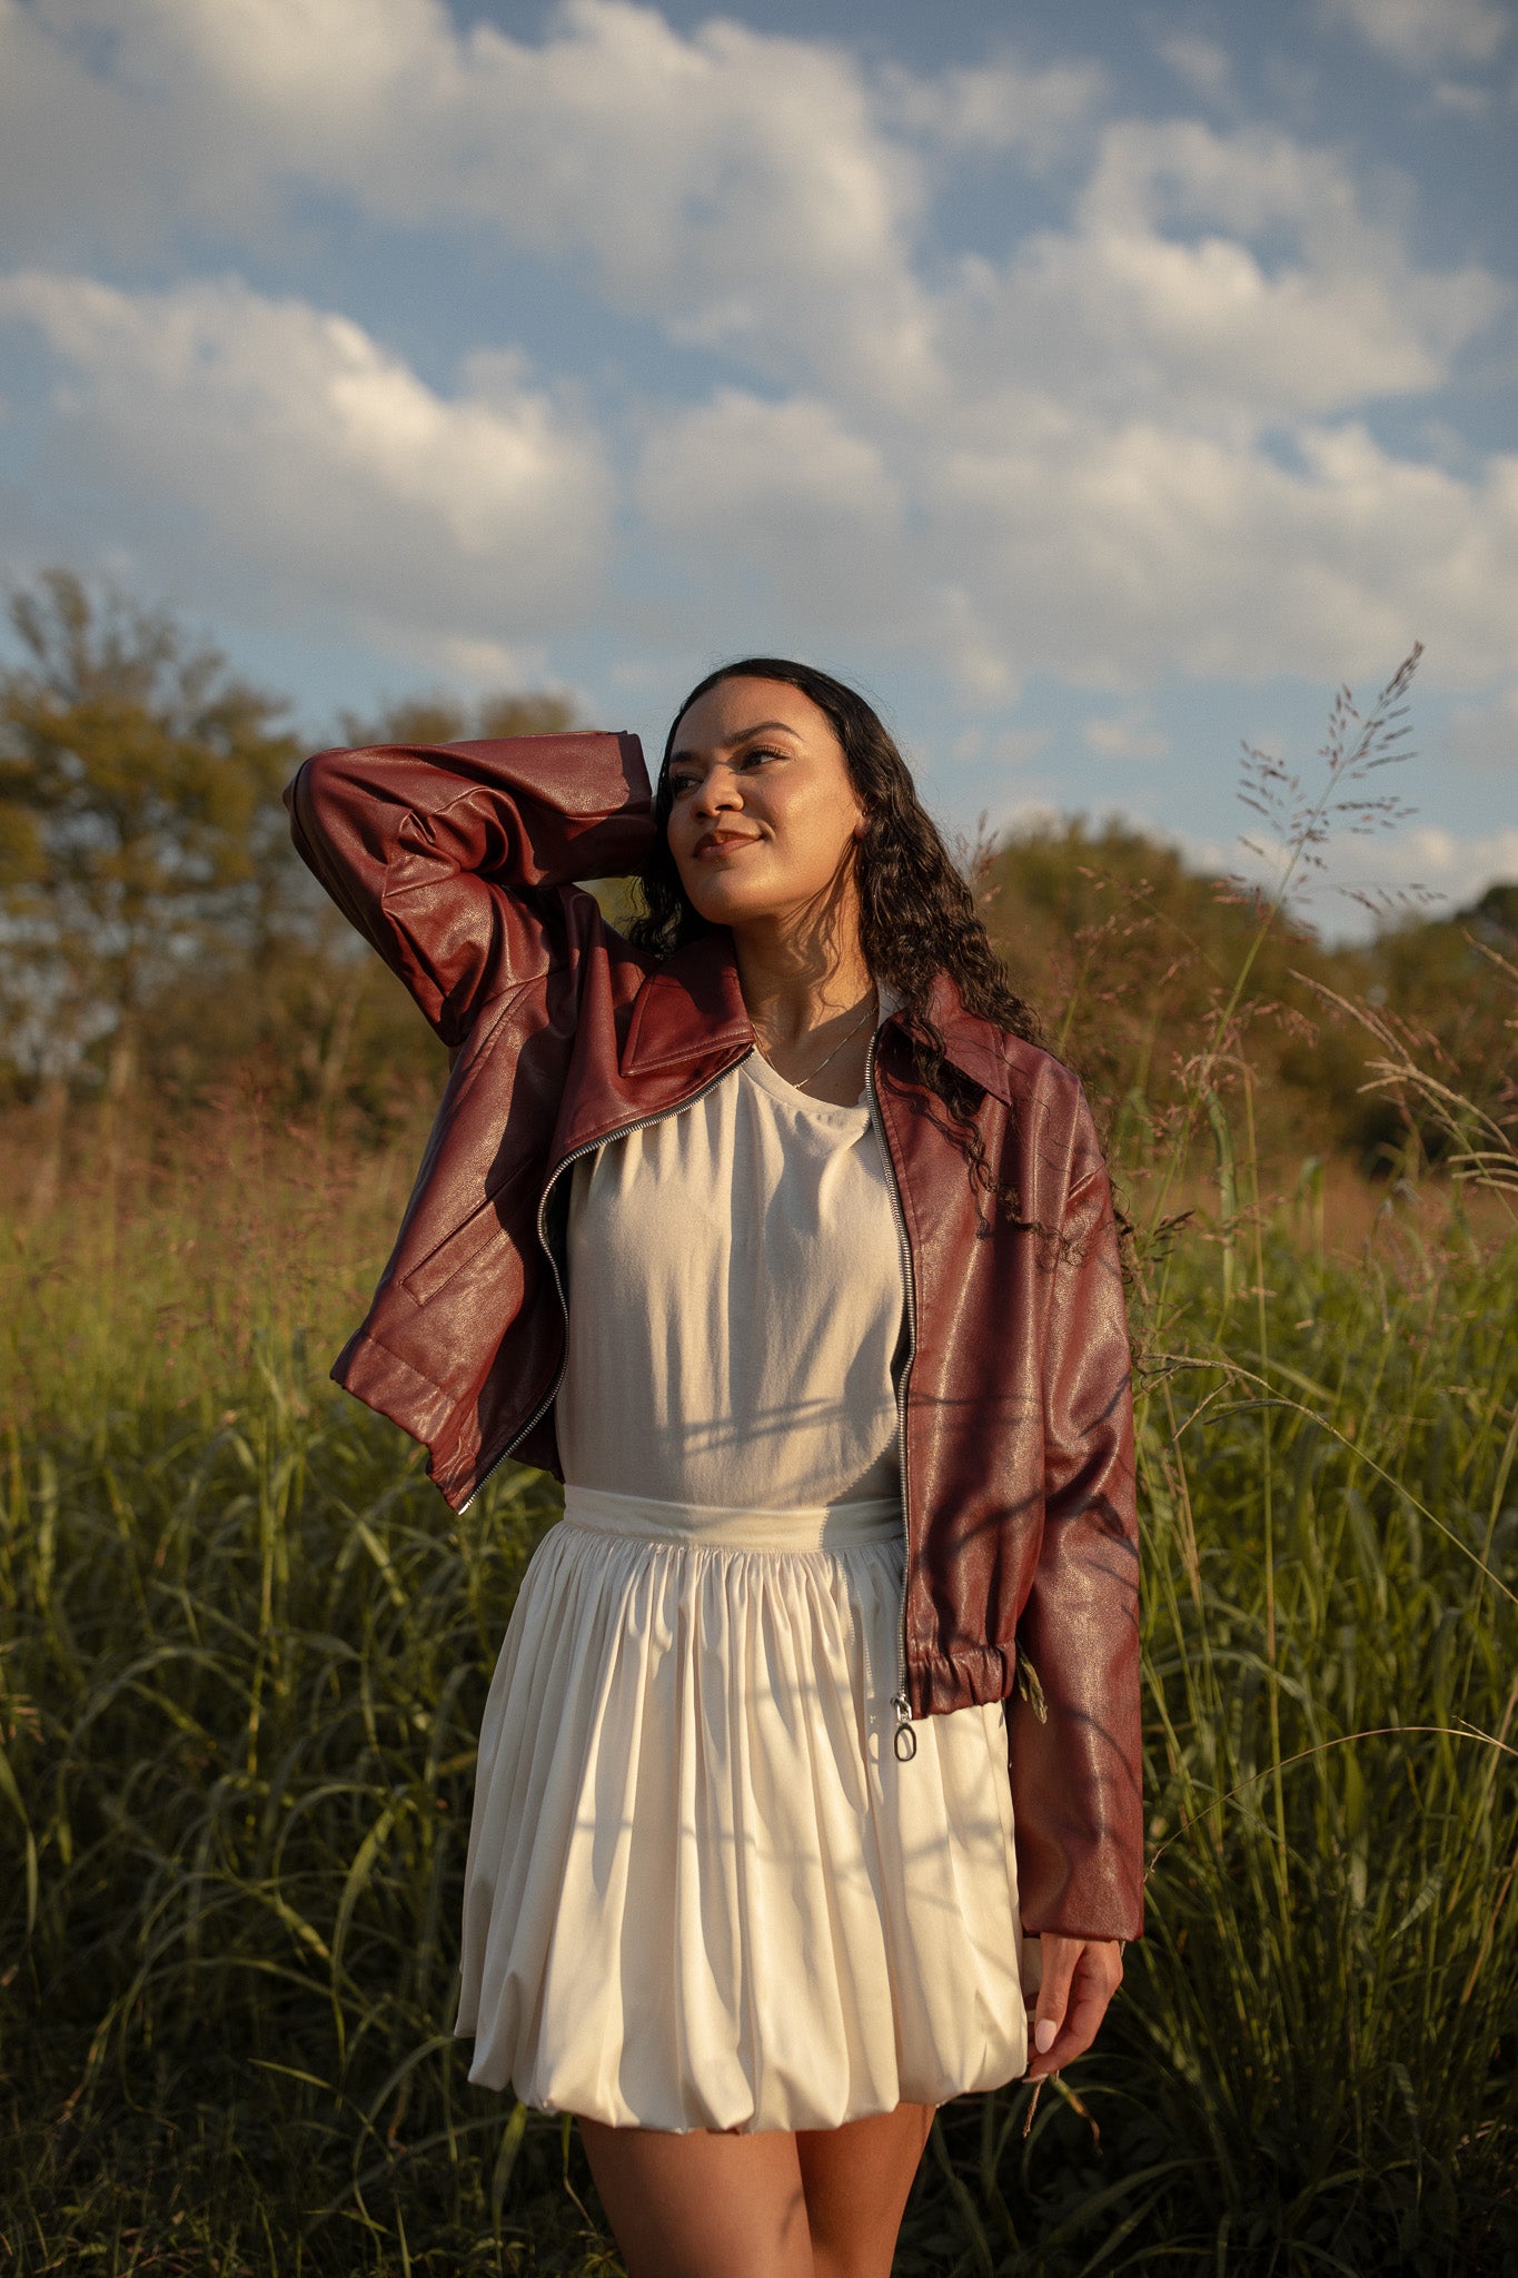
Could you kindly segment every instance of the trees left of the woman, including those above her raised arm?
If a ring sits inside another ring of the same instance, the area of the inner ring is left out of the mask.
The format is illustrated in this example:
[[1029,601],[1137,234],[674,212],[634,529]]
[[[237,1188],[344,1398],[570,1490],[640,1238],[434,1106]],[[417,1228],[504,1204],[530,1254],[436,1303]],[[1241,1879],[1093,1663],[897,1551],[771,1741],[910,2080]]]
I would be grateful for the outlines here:
[[[303,1112],[410,1121],[446,1073],[401,984],[289,843],[289,706],[118,590],[43,572],[0,672],[0,1087],[146,1089],[175,1112],[228,1087]],[[398,699],[344,743],[567,729],[562,695]]]

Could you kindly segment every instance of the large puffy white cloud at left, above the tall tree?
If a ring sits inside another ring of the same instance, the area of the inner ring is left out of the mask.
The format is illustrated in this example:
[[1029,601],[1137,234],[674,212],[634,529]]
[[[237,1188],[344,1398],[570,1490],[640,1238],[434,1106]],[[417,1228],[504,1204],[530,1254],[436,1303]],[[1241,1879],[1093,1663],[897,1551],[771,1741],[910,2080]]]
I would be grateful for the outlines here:
[[498,640],[596,585],[599,442],[512,367],[439,396],[346,317],[237,282],[132,296],[23,271],[0,278],[0,319],[66,371],[71,465],[159,519],[184,510],[189,558],[253,572],[287,622],[321,606],[423,645]]

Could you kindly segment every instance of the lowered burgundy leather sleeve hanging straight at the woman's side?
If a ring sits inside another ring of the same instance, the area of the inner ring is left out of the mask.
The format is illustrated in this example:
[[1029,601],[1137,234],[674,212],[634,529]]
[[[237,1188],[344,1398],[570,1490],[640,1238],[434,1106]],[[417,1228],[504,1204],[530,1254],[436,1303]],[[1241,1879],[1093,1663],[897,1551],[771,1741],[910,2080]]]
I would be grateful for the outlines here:
[[1008,1704],[1024,1929],[1142,1934],[1133,1392],[1113,1198],[1079,1103],[1045,1346],[1045,1526]]

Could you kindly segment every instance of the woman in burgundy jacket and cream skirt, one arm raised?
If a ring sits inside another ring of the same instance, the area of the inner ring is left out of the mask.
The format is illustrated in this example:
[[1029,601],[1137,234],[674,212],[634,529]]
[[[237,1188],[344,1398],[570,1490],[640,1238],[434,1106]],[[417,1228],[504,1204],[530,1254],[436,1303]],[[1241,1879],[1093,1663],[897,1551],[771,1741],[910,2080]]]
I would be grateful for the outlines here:
[[[564,1478],[480,1736],[471,2078],[578,2114],[633,2278],[876,2278],[1022,1986],[1040,2078],[1140,1932],[1079,1084],[803,665],[701,681],[653,800],[635,738],[546,736],[323,752],[287,804],[455,1055],[332,1374],[455,1508]],[[630,870],[624,941],[574,882]]]

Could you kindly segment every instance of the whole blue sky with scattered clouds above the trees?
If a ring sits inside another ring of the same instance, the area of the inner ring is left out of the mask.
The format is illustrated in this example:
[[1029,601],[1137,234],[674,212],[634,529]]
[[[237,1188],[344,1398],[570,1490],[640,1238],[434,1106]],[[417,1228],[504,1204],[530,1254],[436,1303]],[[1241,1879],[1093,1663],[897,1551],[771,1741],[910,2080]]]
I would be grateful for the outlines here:
[[1331,875],[1518,877],[1513,0],[0,0],[0,572],[312,740],[781,649],[956,829],[1249,866],[1422,640]]

